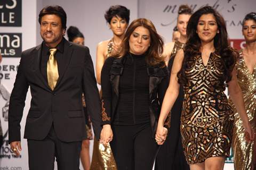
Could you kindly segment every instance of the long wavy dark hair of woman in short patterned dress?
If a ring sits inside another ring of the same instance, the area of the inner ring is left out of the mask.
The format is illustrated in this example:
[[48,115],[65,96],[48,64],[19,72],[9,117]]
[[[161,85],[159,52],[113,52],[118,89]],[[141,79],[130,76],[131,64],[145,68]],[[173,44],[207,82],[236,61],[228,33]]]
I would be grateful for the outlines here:
[[[197,55],[201,55],[201,39],[197,35],[197,24],[199,18],[204,14],[213,14],[218,25],[219,33],[214,37],[215,54],[221,56],[225,73],[222,76],[221,82],[229,82],[231,80],[231,72],[234,69],[238,53],[231,48],[228,43],[228,33],[223,17],[215,11],[211,6],[200,8],[191,15],[187,26],[187,44],[184,49],[184,59],[182,62],[181,70],[178,72],[179,83],[186,84],[187,78],[185,70],[188,68],[188,63],[193,62]],[[223,86],[226,84],[221,84]]]

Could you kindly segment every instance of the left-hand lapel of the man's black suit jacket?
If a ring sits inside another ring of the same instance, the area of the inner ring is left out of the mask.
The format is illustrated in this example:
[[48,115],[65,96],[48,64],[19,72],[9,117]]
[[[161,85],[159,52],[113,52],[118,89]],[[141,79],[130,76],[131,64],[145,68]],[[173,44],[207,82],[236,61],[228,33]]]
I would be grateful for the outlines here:
[[36,50],[33,52],[33,58],[34,58],[34,70],[37,75],[37,77],[43,82],[45,89],[51,90],[51,88],[48,86],[48,83],[45,81],[41,71],[40,71],[40,62],[41,62],[41,51],[42,51],[42,44],[38,45],[36,47]]

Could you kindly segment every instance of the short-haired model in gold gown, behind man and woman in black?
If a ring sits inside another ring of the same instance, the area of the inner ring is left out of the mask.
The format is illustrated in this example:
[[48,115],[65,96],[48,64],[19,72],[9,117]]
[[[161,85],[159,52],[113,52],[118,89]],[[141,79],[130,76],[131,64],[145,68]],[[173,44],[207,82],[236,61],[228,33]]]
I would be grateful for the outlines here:
[[[130,10],[121,5],[110,6],[105,13],[105,19],[110,30],[113,32],[113,37],[101,41],[97,46],[96,78],[98,84],[101,84],[101,69],[105,60],[109,56],[118,53],[121,48],[120,45],[130,20]],[[107,169],[117,169],[109,143],[103,145],[99,141],[94,140],[91,170]]]

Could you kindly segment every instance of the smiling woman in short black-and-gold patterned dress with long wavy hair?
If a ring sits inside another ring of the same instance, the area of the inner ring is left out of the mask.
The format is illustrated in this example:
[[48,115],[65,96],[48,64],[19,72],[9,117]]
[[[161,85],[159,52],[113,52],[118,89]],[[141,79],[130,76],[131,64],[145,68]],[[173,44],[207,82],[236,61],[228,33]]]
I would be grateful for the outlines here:
[[163,122],[184,88],[181,113],[181,139],[190,169],[223,169],[229,156],[234,114],[224,91],[238,110],[243,127],[253,140],[254,133],[245,112],[241,89],[234,68],[238,53],[228,45],[226,24],[210,6],[191,15],[188,41],[174,58],[171,80],[159,116],[156,140],[162,144]]

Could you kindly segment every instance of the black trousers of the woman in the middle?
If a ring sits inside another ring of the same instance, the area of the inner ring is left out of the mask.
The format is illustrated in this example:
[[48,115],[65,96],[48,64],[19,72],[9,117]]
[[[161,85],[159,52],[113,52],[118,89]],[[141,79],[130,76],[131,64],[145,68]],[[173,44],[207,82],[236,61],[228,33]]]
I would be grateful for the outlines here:
[[151,170],[158,145],[152,138],[149,123],[138,125],[113,125],[113,141],[110,142],[117,169]]

